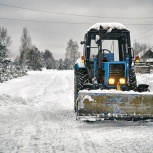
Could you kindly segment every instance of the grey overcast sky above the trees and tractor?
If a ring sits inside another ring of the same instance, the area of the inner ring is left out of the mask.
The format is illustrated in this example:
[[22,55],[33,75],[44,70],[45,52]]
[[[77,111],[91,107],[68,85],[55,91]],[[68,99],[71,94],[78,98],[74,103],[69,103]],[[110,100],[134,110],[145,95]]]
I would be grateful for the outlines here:
[[82,52],[80,41],[97,22],[123,23],[131,31],[132,41],[153,45],[153,0],[0,0],[0,27],[7,28],[15,55],[23,27],[27,27],[33,45],[40,51],[49,49],[60,59],[65,57],[70,39],[78,42]]

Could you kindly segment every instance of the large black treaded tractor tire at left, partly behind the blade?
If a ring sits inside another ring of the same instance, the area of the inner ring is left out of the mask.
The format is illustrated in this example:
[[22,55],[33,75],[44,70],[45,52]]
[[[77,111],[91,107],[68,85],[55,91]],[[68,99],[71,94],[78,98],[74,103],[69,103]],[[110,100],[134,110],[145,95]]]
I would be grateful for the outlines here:
[[77,110],[76,100],[78,98],[78,92],[83,90],[83,84],[88,83],[88,73],[86,69],[77,69],[74,73],[74,110]]

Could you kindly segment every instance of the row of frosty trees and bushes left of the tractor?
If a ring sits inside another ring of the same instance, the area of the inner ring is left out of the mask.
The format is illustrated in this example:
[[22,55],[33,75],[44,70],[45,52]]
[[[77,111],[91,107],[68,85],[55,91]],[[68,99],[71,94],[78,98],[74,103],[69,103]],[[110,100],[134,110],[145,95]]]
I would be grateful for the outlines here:
[[11,36],[9,36],[7,29],[0,27],[1,83],[12,78],[24,76],[29,70],[41,71],[42,68],[70,70],[73,69],[75,61],[80,57],[78,43],[70,39],[65,49],[65,58],[56,60],[49,49],[40,51],[37,46],[32,44],[32,38],[26,27],[23,28],[20,39],[20,54],[13,60],[9,50],[11,42]]

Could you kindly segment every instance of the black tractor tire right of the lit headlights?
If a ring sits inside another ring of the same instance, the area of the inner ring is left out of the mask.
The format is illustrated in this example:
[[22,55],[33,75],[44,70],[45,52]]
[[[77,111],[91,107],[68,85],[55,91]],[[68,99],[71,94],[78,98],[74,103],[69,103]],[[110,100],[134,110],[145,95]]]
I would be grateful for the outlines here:
[[129,90],[136,91],[137,90],[137,80],[135,71],[133,69],[129,70]]

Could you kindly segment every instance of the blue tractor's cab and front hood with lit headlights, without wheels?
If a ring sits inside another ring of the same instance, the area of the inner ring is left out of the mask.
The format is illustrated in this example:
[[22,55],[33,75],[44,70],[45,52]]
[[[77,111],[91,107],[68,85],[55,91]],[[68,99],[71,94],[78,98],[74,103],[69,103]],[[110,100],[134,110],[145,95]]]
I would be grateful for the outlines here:
[[125,26],[96,24],[87,31],[82,44],[90,80],[97,82],[98,88],[114,89],[119,84],[126,90],[134,52]]

